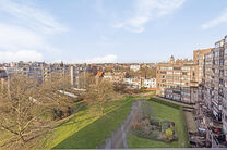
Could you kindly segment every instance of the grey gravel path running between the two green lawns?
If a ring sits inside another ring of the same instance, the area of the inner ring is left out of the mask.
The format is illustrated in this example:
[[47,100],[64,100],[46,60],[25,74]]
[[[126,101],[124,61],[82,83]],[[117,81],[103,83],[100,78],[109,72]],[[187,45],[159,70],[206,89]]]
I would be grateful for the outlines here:
[[132,109],[127,116],[127,120],[123,121],[123,123],[117,130],[112,132],[112,136],[110,138],[106,138],[104,147],[105,149],[128,148],[127,135],[129,134],[132,126],[132,120],[134,114],[141,110],[142,101],[144,100],[136,100],[132,103]]

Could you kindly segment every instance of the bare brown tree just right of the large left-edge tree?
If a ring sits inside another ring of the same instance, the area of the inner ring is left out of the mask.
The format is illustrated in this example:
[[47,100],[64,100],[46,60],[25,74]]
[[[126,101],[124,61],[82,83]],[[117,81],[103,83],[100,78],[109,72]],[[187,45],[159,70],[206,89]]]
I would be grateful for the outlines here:
[[64,112],[70,109],[72,103],[75,101],[75,97],[73,98],[68,91],[71,89],[70,77],[69,76],[59,76],[53,73],[50,74],[46,80],[40,85],[37,90],[38,95],[37,99],[44,101],[45,105],[48,108],[47,111],[60,112],[59,117],[63,117]]

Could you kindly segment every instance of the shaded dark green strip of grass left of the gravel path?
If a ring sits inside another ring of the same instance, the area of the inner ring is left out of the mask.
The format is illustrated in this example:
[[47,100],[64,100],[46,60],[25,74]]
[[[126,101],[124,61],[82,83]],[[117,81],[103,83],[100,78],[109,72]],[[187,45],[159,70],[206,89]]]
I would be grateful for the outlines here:
[[88,124],[81,130],[72,134],[62,142],[57,145],[56,149],[79,149],[96,148],[105,142],[105,138],[111,136],[111,132],[117,129],[131,110],[131,103],[136,98],[127,98],[121,102],[121,107],[107,113],[105,116]]

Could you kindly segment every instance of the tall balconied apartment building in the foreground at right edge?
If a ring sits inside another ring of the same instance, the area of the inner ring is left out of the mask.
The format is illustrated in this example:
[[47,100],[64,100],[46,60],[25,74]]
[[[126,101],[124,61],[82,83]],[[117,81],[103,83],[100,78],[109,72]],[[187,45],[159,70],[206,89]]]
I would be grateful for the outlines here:
[[227,141],[227,37],[204,55],[204,74],[199,86],[198,121],[212,147]]

